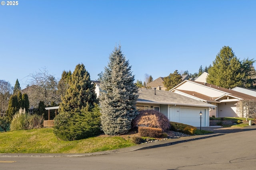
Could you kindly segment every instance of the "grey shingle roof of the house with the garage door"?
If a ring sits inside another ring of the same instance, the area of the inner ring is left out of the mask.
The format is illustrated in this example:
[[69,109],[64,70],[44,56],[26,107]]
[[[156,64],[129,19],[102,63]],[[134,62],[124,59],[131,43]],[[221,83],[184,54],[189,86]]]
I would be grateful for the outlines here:
[[138,91],[137,103],[152,103],[163,105],[183,105],[183,106],[197,106],[197,107],[216,107],[209,103],[205,103],[190,97],[186,97],[171,91],[142,89]]

